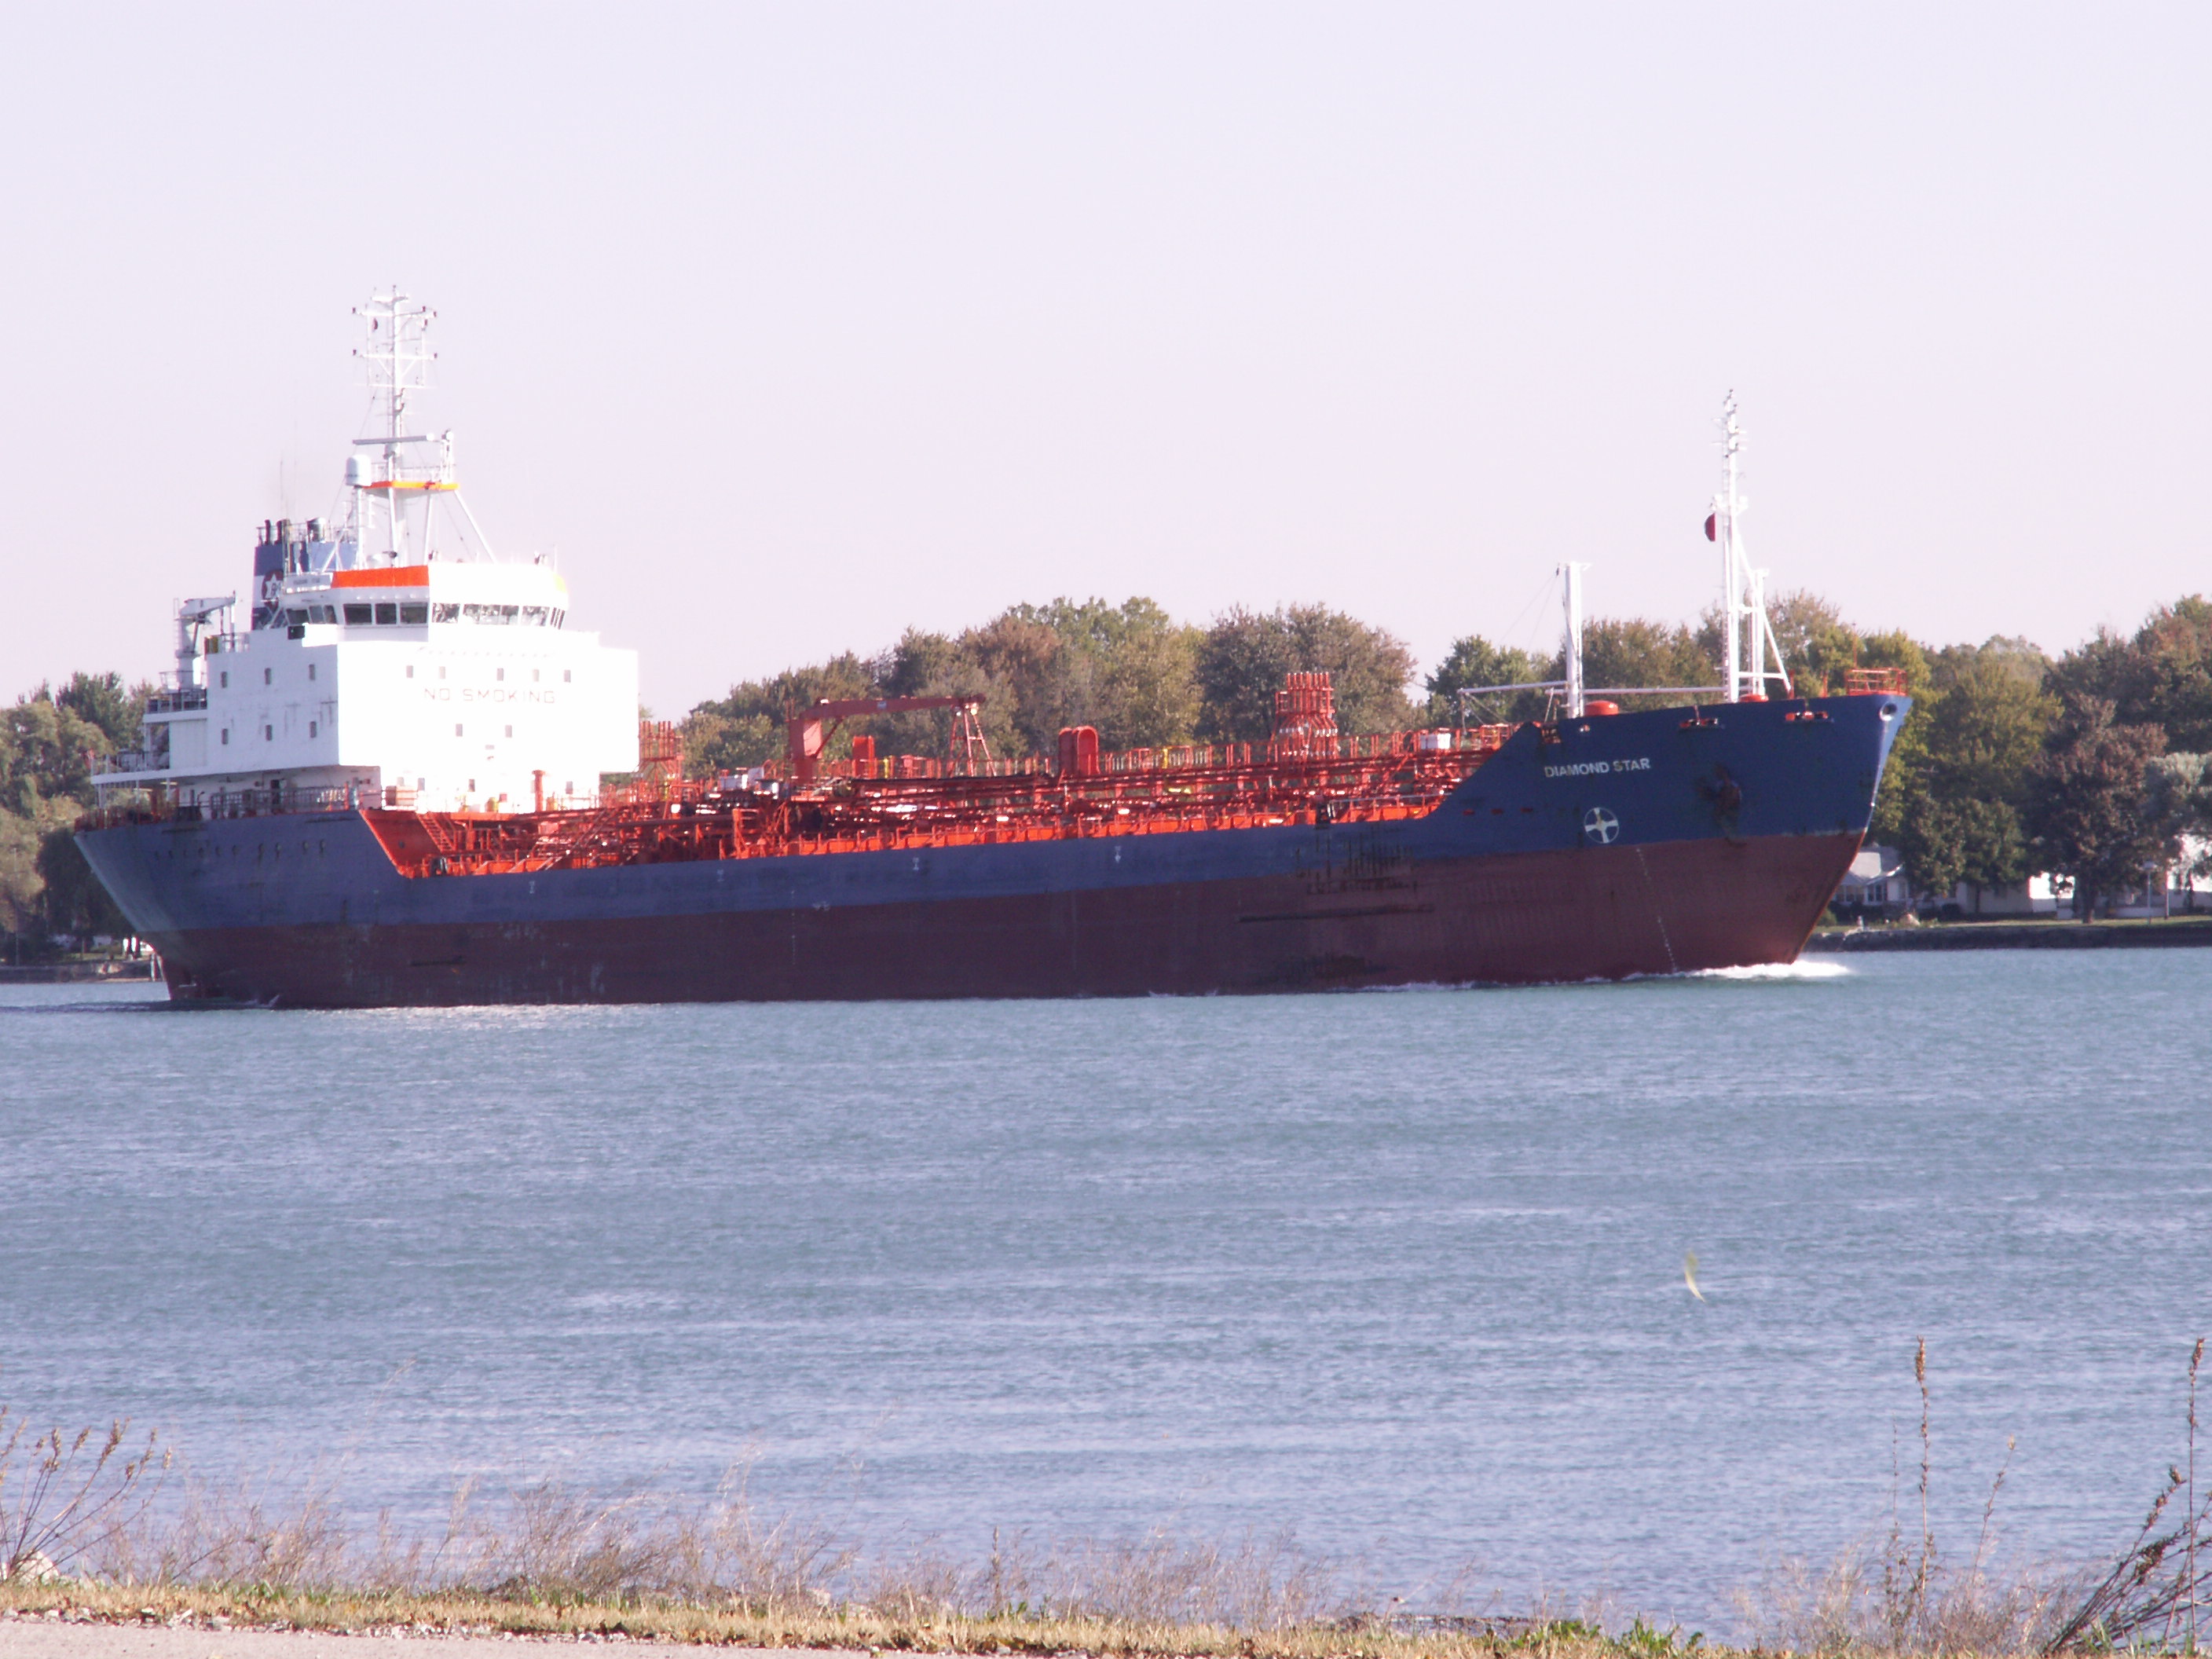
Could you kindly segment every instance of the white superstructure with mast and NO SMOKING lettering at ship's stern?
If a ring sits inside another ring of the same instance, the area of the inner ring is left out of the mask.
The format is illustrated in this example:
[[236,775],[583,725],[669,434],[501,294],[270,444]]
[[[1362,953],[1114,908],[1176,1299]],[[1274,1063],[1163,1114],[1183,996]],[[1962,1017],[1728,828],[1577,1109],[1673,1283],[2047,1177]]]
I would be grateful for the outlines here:
[[431,312],[392,292],[361,314],[383,434],[354,442],[343,518],[261,526],[243,628],[234,597],[177,606],[173,684],[104,794],[518,812],[637,770],[637,653],[566,626],[551,564],[493,557],[451,431],[405,431]]

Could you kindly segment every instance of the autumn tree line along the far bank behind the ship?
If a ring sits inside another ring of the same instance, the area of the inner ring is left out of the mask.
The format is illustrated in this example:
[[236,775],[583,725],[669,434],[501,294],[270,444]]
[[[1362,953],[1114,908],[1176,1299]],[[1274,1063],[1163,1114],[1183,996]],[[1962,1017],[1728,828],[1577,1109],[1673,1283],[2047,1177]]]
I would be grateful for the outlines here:
[[[1900,847],[1916,889],[2011,887],[2035,872],[2073,883],[2084,914],[2185,865],[2212,836],[2212,602],[2157,608],[2132,635],[2099,630],[2062,657],[2024,639],[1931,646],[1860,630],[1834,604],[1787,593],[1770,606],[1798,690],[1840,688],[1847,668],[1900,668],[1913,712],[1876,801],[1871,838]],[[1714,686],[1721,619],[1694,626],[1599,617],[1584,630],[1588,686]],[[907,630],[874,653],[739,681],[681,721],[686,770],[737,772],[783,754],[787,706],[821,697],[982,697],[993,754],[1048,757],[1064,726],[1110,750],[1267,737],[1290,672],[1325,670],[1345,732],[1460,719],[1462,688],[1562,679],[1564,653],[1480,635],[1416,677],[1387,628],[1329,606],[1230,608],[1210,624],[1133,597],[1018,604],[960,633]],[[9,951],[53,936],[122,933],[113,902],[71,843],[93,803],[91,754],[137,745],[150,686],[73,675],[0,719],[0,931]],[[1624,697],[1628,706],[1681,697]],[[1469,721],[1546,714],[1548,692],[1464,699]],[[878,714],[880,754],[942,754],[949,714]],[[841,732],[830,754],[849,752]],[[2203,863],[2190,874],[2205,874]]]

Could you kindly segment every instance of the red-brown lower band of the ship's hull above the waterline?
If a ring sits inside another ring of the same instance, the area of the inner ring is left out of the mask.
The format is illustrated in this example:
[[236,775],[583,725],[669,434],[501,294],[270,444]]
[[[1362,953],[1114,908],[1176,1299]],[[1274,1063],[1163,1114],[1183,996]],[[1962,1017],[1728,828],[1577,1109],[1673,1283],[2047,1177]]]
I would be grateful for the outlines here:
[[1210,995],[1619,980],[1792,960],[1856,834],[1449,858],[927,905],[199,929],[179,995],[285,1006]]

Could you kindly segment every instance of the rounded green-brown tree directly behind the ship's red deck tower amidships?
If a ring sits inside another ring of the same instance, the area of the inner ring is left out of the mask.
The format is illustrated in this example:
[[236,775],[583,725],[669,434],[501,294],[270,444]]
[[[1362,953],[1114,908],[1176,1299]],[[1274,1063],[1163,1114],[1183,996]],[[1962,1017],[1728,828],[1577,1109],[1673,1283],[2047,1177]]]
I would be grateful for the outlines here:
[[1256,743],[1274,730],[1283,677],[1327,672],[1343,732],[1402,732],[1418,721],[1405,688],[1413,653],[1385,628],[1327,606],[1234,606],[1214,617],[1197,653],[1199,737]]

